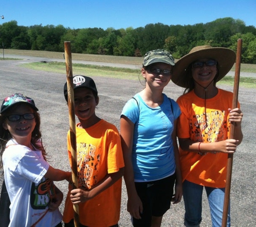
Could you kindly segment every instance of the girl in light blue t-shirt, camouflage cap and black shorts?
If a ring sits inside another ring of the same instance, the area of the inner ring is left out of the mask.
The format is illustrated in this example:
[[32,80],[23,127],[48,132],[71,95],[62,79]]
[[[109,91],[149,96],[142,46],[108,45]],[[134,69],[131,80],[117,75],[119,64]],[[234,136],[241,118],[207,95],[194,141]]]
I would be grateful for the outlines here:
[[146,53],[141,69],[146,87],[124,105],[121,113],[127,210],[133,226],[161,226],[171,201],[176,204],[182,198],[176,139],[181,111],[163,94],[174,64],[172,55],[163,49]]

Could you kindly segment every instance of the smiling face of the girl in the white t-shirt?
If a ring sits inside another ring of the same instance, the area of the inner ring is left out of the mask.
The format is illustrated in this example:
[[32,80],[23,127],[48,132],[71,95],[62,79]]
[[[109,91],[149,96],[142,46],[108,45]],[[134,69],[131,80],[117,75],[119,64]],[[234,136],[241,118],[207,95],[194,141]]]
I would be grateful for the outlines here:
[[[29,105],[20,104],[17,107],[13,107],[7,116],[25,115],[26,113],[34,113],[34,110]],[[3,123],[3,127],[11,133],[12,137],[19,144],[26,145],[26,143],[30,144],[32,132],[34,127],[36,127],[36,119],[24,119],[23,116],[20,116],[19,120],[11,121],[7,117]]]

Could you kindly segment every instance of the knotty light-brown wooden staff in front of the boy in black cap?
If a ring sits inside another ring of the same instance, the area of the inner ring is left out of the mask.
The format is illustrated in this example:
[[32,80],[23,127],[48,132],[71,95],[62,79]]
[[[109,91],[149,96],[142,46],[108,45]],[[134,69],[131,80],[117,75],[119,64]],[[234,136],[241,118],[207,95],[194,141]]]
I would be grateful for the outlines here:
[[[70,42],[64,42],[66,75],[67,75],[67,103],[70,119],[70,140],[72,155],[72,181],[74,186],[78,188],[78,171],[77,171],[77,137],[75,132],[75,114],[74,114],[74,88],[73,88],[73,72],[72,72],[72,56]],[[79,207],[78,204],[73,205],[74,208],[74,225],[79,226]]]

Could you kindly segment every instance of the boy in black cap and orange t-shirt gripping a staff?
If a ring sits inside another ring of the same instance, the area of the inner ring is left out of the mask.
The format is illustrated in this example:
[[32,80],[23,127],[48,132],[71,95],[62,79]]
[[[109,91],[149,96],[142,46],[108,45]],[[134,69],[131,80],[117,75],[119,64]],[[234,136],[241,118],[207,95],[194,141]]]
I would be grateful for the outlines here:
[[[79,204],[81,227],[116,227],[124,170],[119,132],[113,124],[95,115],[99,97],[90,77],[74,76],[73,87],[74,111],[80,120],[76,126],[79,187],[68,187],[63,221],[65,226],[74,226],[73,204]],[[67,84],[64,95],[67,100]],[[70,143],[68,132],[68,158],[72,166]]]

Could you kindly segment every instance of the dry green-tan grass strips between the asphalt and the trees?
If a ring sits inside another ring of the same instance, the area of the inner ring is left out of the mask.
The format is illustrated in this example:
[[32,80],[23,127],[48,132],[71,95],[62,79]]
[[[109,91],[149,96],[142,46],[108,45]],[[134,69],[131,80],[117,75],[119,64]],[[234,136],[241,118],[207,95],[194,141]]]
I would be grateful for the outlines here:
[[[49,59],[63,59],[63,52],[49,52],[49,51],[26,51],[18,49],[5,49],[5,54],[16,54],[16,55],[27,55],[27,56],[39,56],[41,58]],[[0,58],[3,60],[3,58]],[[16,59],[4,59],[4,60],[16,60]],[[127,56],[110,56],[110,55],[95,55],[95,54],[77,54],[72,53],[72,60],[83,60],[83,61],[95,61],[95,62],[108,62],[108,63],[120,63],[128,65],[136,65],[138,68],[141,67],[143,58],[127,57]],[[66,75],[66,66],[64,62],[34,62],[20,65],[21,67],[31,68],[35,70],[43,70],[47,72],[55,72]],[[232,71],[235,70],[234,65]],[[130,79],[137,80],[141,75],[140,69],[129,69],[129,68],[115,68],[106,66],[95,66],[95,65],[83,65],[83,64],[72,64],[73,75],[87,75],[87,76],[105,76],[113,77],[118,79]],[[241,64],[240,72],[245,73],[256,73],[256,65],[252,64]],[[218,84],[225,84],[233,86],[234,78],[232,76],[225,76]],[[256,79],[251,77],[240,77],[240,87],[256,88]]]

